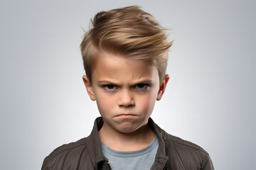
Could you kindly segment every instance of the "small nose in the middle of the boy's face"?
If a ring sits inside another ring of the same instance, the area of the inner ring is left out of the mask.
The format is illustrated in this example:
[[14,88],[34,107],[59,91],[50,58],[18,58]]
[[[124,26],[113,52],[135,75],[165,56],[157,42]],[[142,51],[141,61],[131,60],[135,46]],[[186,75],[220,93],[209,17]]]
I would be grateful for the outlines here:
[[118,106],[125,108],[135,106],[134,98],[129,90],[120,91]]

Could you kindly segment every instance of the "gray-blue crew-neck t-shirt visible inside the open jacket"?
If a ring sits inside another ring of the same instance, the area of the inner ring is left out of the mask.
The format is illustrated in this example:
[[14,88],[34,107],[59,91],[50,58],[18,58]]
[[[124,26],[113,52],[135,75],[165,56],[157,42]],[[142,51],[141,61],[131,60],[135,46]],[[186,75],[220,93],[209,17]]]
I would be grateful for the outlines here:
[[113,170],[149,170],[154,164],[158,147],[157,137],[147,147],[130,152],[116,151],[102,142],[102,154],[109,159]]

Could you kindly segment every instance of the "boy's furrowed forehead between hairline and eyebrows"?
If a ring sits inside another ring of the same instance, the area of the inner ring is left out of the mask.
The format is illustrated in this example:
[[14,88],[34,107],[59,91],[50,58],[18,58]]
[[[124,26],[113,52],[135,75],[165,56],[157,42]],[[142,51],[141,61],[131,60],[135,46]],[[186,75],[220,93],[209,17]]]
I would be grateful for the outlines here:
[[112,81],[137,81],[159,79],[156,67],[142,60],[132,60],[122,55],[101,53],[92,68],[92,79]]

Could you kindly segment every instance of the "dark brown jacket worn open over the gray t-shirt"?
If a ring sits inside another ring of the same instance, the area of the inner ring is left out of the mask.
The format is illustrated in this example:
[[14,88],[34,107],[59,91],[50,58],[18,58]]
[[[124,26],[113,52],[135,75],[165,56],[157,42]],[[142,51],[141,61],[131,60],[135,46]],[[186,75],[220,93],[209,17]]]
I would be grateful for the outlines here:
[[[111,169],[108,160],[102,155],[98,131],[102,128],[102,118],[95,120],[95,125],[88,137],[77,142],[62,145],[55,149],[43,161],[41,170],[90,170]],[[213,170],[209,154],[191,142],[169,135],[149,118],[149,125],[159,140],[159,149],[151,169],[171,170]]]

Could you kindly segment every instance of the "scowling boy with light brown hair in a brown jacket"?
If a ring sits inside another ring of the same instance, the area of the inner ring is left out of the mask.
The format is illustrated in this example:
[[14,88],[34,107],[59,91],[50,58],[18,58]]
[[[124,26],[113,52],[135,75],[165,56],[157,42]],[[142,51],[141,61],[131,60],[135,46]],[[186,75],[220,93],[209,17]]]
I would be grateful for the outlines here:
[[100,118],[88,137],[55,149],[42,169],[214,169],[208,153],[150,118],[164,94],[164,28],[138,6],[97,13],[80,45],[87,94]]

